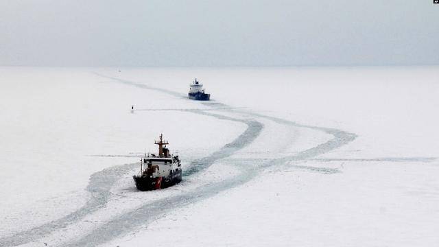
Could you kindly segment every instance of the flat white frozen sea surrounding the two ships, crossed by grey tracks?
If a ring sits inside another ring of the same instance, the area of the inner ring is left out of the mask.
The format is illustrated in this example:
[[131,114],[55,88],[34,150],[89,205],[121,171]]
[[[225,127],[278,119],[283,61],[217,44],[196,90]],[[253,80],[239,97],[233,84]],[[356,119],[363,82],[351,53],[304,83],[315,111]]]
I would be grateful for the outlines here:
[[[439,245],[439,67],[0,67],[0,89],[0,246]],[[183,182],[137,191],[160,133]]]

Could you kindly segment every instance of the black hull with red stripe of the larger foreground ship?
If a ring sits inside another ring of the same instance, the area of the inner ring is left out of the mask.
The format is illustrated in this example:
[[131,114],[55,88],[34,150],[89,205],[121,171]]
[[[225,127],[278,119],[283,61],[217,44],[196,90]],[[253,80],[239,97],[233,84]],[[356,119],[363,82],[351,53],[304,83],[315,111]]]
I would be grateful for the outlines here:
[[176,185],[182,180],[181,169],[167,177],[151,178],[150,176],[132,176],[136,183],[137,189],[141,191],[150,191],[154,189],[165,189],[172,185]]

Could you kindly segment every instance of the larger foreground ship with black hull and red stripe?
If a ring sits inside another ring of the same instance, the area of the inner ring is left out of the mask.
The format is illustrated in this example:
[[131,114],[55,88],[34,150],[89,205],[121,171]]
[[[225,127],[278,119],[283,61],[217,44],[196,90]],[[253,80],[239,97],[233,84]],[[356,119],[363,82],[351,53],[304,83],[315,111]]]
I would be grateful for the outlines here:
[[163,134],[158,141],[158,154],[147,154],[141,159],[140,172],[132,176],[137,189],[147,191],[152,189],[163,189],[182,180],[182,169],[178,155],[169,154],[166,145],[169,143],[163,140]]

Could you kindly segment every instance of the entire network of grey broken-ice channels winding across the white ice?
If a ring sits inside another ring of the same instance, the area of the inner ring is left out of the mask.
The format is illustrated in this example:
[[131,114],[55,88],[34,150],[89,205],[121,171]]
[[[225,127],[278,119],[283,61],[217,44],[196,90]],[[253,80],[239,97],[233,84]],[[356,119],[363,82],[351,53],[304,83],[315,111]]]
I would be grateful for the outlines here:
[[[104,75],[101,75],[104,76]],[[123,84],[127,84],[130,86],[137,86],[141,89],[160,91],[161,93],[167,93],[172,96],[177,97],[185,97],[180,93],[176,93],[174,91],[164,90],[154,88],[152,86],[147,86],[145,84],[139,84],[136,82],[130,82],[128,80],[121,80],[119,78],[111,78],[108,76],[104,76],[106,78],[110,78],[115,82],[120,82]],[[204,102],[202,102],[205,104]],[[230,108],[225,104],[216,102],[216,104],[205,104],[207,106],[221,106],[218,110],[215,109],[175,109],[187,111],[195,114],[208,115],[210,117],[216,117],[218,119],[226,119],[229,121],[239,121],[247,125],[246,130],[239,135],[235,139],[235,141],[224,145],[223,148],[213,152],[209,156],[204,158],[200,158],[194,161],[191,161],[191,164],[187,169],[185,169],[185,176],[191,176],[193,174],[197,174],[204,169],[207,169],[210,165],[218,161],[219,159],[224,159],[230,157],[232,154],[246,147],[250,143],[256,139],[261,131],[263,131],[263,124],[258,119],[269,119],[270,121],[274,121],[277,124],[283,124],[285,126],[291,126],[294,128],[309,128],[313,130],[318,130],[325,132],[327,134],[331,134],[333,138],[325,143],[321,143],[316,147],[309,148],[308,150],[304,150],[299,152],[296,155],[285,156],[283,158],[272,158],[272,159],[264,159],[259,161],[252,161],[252,166],[246,166],[245,162],[235,161],[233,165],[240,167],[243,171],[243,174],[240,176],[235,176],[233,178],[228,178],[226,180],[222,180],[218,183],[212,183],[210,185],[206,185],[204,187],[198,188],[193,191],[187,191],[178,196],[170,196],[169,198],[163,198],[161,200],[155,200],[153,202],[148,202],[143,204],[141,207],[128,211],[128,213],[123,213],[117,217],[113,217],[112,220],[97,226],[93,231],[88,232],[86,235],[80,237],[79,239],[75,239],[73,242],[64,242],[63,246],[96,246],[98,244],[103,244],[108,242],[115,237],[123,235],[124,233],[128,233],[130,231],[135,230],[139,226],[144,224],[148,224],[152,220],[155,220],[163,213],[174,209],[176,205],[179,207],[183,207],[187,204],[196,202],[198,200],[202,200],[204,198],[209,198],[214,196],[215,194],[225,191],[226,189],[230,189],[236,187],[237,185],[241,185],[246,183],[248,180],[257,176],[257,174],[261,171],[261,169],[265,169],[266,167],[270,167],[273,165],[282,165],[288,163],[290,161],[301,161],[304,159],[315,158],[320,154],[324,154],[331,150],[335,150],[336,148],[340,148],[342,145],[346,145],[347,143],[353,141],[356,137],[355,134],[344,132],[342,130],[336,130],[333,128],[320,128],[316,126],[306,126],[302,124],[296,124],[293,121],[287,121],[285,119],[280,119],[276,117],[270,117],[265,115],[260,115],[257,113],[252,113],[247,110],[239,110],[236,108]],[[216,111],[213,113],[213,111]],[[248,119],[246,117],[235,118],[227,115],[222,115],[221,113],[233,113],[233,114],[242,114],[246,116],[251,116],[252,119]],[[228,160],[228,162],[233,162],[233,159]],[[110,193],[111,187],[119,180],[121,174],[131,171],[136,164],[126,164],[117,167],[110,167],[102,170],[101,172],[97,172],[91,175],[88,186],[86,190],[90,193],[90,199],[86,204],[70,213],[69,215],[62,217],[58,220],[54,220],[53,222],[49,222],[47,224],[43,224],[32,228],[28,231],[21,231],[9,237],[3,237],[0,239],[0,246],[17,246],[21,244],[27,244],[29,242],[34,242],[38,239],[42,239],[47,235],[54,233],[61,228],[65,228],[75,222],[79,222],[86,215],[90,215],[95,211],[102,209],[106,206],[109,200],[111,200],[112,193]],[[324,173],[335,173],[338,172],[335,168],[324,168],[324,167],[307,167],[307,166],[296,166],[299,169],[309,169],[313,172],[324,172]]]

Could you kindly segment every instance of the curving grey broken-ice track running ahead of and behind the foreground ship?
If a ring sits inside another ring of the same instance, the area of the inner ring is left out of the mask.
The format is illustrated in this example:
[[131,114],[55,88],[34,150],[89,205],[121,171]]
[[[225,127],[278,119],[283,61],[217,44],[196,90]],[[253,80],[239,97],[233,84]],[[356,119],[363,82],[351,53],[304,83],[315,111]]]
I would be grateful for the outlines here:
[[[204,113],[203,111],[191,110],[191,113],[209,115],[211,117],[216,117],[218,119],[228,119],[230,121],[238,121],[247,125],[246,130],[237,137],[231,143],[224,145],[223,148],[213,152],[209,156],[204,158],[199,158],[191,161],[188,169],[185,169],[183,176],[190,176],[196,174],[204,169],[207,169],[210,165],[215,163],[219,158],[226,158],[236,152],[237,150],[244,148],[246,145],[250,144],[254,138],[259,135],[263,126],[257,121],[248,121],[242,119],[235,119],[233,117],[226,117],[217,114]],[[238,141],[239,139],[239,141]],[[117,165],[115,167],[108,167],[100,172],[96,172],[90,176],[88,186],[86,191],[90,193],[90,197],[86,204],[80,209],[69,213],[58,220],[54,220],[34,228],[30,228],[26,231],[20,231],[14,233],[13,235],[0,238],[0,246],[18,246],[21,244],[27,244],[29,242],[41,239],[60,228],[66,228],[70,224],[75,224],[79,222],[87,215],[94,213],[95,211],[106,206],[110,200],[112,193],[110,189],[117,180],[119,180],[121,174],[132,171],[137,167],[138,163],[130,163],[126,165]]]

